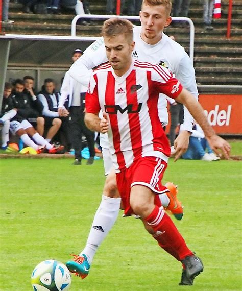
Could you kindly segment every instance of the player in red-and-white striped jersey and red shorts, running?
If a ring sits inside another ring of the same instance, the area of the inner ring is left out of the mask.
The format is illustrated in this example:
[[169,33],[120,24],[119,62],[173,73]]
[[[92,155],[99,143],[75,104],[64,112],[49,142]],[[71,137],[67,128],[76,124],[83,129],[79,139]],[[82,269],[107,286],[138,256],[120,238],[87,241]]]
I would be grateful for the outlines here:
[[[159,93],[186,105],[201,125],[211,147],[221,149],[228,158],[229,144],[217,136],[201,105],[159,65],[134,61],[132,23],[112,18],[106,20],[103,35],[110,63],[96,69],[91,77],[86,100],[86,124],[93,130],[108,132],[110,152],[115,166],[117,185],[125,214],[137,214],[167,242],[168,253],[182,262],[180,284],[192,285],[203,271],[201,260],[192,253],[165,213],[157,193],[167,191],[161,183],[170,156],[170,146],[160,123]],[[99,118],[100,109],[104,112]],[[76,262],[68,262],[70,271],[82,275]],[[88,269],[88,268],[87,268]]]

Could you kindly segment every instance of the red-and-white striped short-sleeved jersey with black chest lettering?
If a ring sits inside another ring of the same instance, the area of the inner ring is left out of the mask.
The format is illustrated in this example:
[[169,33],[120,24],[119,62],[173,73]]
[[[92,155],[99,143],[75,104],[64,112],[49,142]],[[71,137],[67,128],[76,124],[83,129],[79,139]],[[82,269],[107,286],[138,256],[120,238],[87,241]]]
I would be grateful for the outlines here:
[[117,172],[136,159],[160,157],[166,162],[170,146],[158,114],[159,93],[176,98],[182,90],[171,71],[159,65],[132,61],[118,77],[109,63],[96,69],[86,95],[86,112],[108,113],[109,149]]

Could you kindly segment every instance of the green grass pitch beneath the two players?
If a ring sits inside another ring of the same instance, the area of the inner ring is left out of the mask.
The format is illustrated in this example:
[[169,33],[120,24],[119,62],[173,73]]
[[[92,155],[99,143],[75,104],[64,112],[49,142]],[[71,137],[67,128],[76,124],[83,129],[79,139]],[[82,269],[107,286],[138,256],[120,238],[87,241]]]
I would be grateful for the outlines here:
[[[0,290],[27,291],[36,264],[51,258],[65,262],[84,247],[101,200],[102,160],[93,166],[73,166],[69,159],[0,162]],[[185,215],[175,223],[205,265],[195,285],[178,286],[180,263],[139,220],[119,217],[89,276],[72,276],[72,291],[242,289],[241,162],[171,160],[166,181],[179,185]]]

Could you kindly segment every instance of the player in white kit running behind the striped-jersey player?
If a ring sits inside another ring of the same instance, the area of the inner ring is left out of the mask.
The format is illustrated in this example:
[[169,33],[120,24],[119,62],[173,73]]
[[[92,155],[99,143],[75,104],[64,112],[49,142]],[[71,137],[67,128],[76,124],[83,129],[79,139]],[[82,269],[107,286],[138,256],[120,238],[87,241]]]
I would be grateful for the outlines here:
[[[174,70],[175,74],[179,76],[178,79],[184,84],[184,87],[197,98],[198,91],[195,71],[188,55],[185,53],[183,47],[163,33],[164,27],[171,23],[170,13],[171,2],[168,0],[143,1],[142,10],[140,12],[142,29],[141,27],[134,27],[133,29],[135,41],[138,43],[138,45],[134,47],[133,58],[141,61],[146,61],[149,58],[149,61],[171,68]],[[168,50],[166,50],[167,46]],[[90,81],[90,69],[106,61],[107,56],[104,41],[103,38],[100,38],[89,46],[85,50],[84,55],[70,67],[70,75],[87,86]],[[159,112],[161,112],[160,115],[162,116],[160,117],[161,123],[166,125],[168,122],[168,114],[166,101],[162,98],[162,94],[159,99]],[[176,139],[175,160],[188,148],[192,118],[190,115],[186,115],[184,119],[186,120],[184,124],[186,124],[187,127],[185,126],[186,128],[184,127],[184,130],[181,130],[181,133]],[[101,146],[103,147],[105,173],[109,173],[109,175],[105,181],[102,201],[95,213],[86,246],[80,253],[82,257],[81,260],[83,261],[83,268],[88,270],[84,270],[82,278],[87,276],[93,256],[114,225],[119,212],[120,198],[119,192],[117,191],[115,173],[111,171],[112,162],[108,157],[110,153],[107,138],[106,140],[101,138]],[[176,215],[177,211],[181,219],[183,215],[182,205],[176,198],[177,189],[174,185],[172,191],[173,195],[170,195],[171,193],[168,193],[170,196],[166,196],[165,194],[162,195],[162,205],[172,210],[174,215]],[[103,231],[99,231],[96,226],[102,226]],[[145,226],[158,241],[159,245],[167,250],[168,247],[166,243],[162,241],[162,236],[157,237],[151,228],[147,225]]]

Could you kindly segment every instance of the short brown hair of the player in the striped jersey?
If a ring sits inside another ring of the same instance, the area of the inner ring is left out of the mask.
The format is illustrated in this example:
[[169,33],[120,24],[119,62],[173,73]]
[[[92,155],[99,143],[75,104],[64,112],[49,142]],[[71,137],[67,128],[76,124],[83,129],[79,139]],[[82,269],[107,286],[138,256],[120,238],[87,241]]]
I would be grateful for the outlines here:
[[133,41],[133,25],[129,20],[123,18],[109,18],[103,23],[103,37],[114,37],[124,34],[131,43]]

